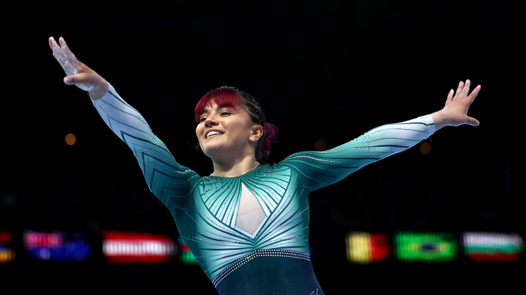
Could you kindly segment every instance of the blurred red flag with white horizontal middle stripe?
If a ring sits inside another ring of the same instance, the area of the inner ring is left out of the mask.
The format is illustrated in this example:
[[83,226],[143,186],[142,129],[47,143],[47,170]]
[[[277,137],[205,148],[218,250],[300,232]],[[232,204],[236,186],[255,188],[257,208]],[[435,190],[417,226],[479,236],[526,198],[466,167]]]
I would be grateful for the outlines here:
[[155,264],[172,259],[177,249],[163,234],[138,231],[104,231],[102,252],[112,264]]

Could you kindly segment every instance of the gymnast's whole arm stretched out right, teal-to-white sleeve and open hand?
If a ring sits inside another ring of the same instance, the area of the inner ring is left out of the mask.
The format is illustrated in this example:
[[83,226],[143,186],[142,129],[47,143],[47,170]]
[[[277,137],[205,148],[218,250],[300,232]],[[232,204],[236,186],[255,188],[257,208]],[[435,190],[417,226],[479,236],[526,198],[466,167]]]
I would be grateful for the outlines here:
[[295,169],[303,178],[303,183],[314,191],[338,182],[368,164],[403,152],[444,126],[478,126],[479,122],[468,117],[467,111],[480,86],[467,96],[469,83],[469,80],[466,85],[461,82],[455,96],[451,91],[444,109],[436,113],[379,126],[331,150],[292,154],[279,165]]

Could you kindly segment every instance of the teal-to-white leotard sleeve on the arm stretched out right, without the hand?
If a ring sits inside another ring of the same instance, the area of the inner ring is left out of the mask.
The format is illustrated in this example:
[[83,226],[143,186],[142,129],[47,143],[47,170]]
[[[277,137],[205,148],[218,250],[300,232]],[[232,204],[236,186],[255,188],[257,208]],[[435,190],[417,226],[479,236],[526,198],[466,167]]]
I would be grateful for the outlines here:
[[403,152],[435,132],[430,115],[379,126],[364,135],[323,152],[299,152],[279,165],[295,169],[312,191],[334,184],[358,169]]

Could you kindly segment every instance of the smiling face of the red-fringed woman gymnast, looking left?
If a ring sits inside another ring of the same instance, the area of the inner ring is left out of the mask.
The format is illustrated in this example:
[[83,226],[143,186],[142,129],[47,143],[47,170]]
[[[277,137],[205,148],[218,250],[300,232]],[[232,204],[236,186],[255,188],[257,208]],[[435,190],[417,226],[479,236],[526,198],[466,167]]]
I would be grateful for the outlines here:
[[262,135],[261,126],[253,125],[243,107],[223,107],[212,102],[205,108],[195,129],[201,150],[212,160],[245,156],[254,152]]

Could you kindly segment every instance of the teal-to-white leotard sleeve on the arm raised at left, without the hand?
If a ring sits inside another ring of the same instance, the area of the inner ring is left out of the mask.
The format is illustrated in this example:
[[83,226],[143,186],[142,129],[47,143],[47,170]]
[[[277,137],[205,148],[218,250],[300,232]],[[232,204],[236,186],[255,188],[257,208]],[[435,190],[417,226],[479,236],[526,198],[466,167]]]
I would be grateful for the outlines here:
[[199,175],[175,161],[142,115],[118,96],[111,85],[101,99],[92,102],[106,125],[134,152],[150,191],[174,217],[178,209],[186,210],[188,195]]

